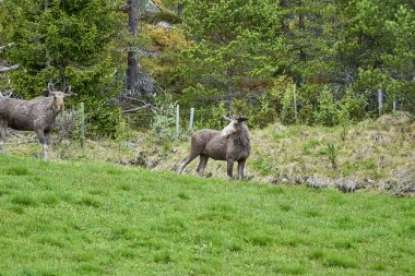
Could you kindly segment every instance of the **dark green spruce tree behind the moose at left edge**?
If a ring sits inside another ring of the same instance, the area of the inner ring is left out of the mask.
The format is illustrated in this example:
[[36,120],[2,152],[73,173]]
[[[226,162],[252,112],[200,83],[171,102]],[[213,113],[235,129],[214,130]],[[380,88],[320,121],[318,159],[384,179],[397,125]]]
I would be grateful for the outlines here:
[[45,95],[49,81],[56,88],[70,85],[95,129],[112,131],[118,115],[110,97],[119,71],[114,41],[122,28],[110,1],[7,0],[0,25],[3,43],[14,44],[7,59],[20,65],[11,73],[15,94]]

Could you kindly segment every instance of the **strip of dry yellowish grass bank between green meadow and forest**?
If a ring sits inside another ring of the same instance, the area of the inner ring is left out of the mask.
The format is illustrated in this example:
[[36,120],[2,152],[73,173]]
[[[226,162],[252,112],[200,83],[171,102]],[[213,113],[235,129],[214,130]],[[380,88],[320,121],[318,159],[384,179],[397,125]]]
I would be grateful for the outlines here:
[[[135,136],[140,141],[131,141],[137,144],[135,148],[102,140],[86,141],[81,151],[78,143],[62,141],[52,146],[51,158],[104,160],[153,170],[175,170],[189,152],[189,142],[156,144],[145,133]],[[335,187],[339,181],[354,181],[358,188],[391,190],[394,194],[415,188],[415,123],[403,115],[388,115],[346,129],[276,123],[263,130],[252,130],[251,144],[247,175],[259,181],[313,187]],[[8,145],[8,148],[16,155],[42,154],[36,143]],[[185,173],[194,175],[197,166],[195,159]],[[211,159],[205,173],[225,178],[226,164]],[[311,180],[318,183],[315,185]]]

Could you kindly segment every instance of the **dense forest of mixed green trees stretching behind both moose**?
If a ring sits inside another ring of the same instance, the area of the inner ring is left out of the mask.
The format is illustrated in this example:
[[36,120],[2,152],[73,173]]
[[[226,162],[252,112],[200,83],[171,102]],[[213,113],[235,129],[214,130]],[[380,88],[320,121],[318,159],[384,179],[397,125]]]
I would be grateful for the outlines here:
[[[346,124],[415,110],[413,0],[1,0],[0,92],[84,101],[90,134],[198,128],[232,110],[251,127]],[[382,106],[379,106],[381,97]],[[133,111],[131,111],[133,110]],[[164,118],[164,119],[163,119]],[[122,124],[122,125],[124,125]]]

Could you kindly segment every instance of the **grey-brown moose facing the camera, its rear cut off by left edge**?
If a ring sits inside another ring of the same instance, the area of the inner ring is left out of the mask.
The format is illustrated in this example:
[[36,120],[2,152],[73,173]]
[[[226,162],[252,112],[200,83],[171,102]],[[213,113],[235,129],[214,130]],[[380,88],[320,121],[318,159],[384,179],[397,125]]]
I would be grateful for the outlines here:
[[47,136],[55,124],[55,119],[64,108],[63,98],[76,95],[67,87],[64,92],[54,91],[48,85],[49,96],[32,100],[0,98],[0,153],[4,153],[7,128],[22,131],[35,131],[42,143],[44,160],[47,161]]

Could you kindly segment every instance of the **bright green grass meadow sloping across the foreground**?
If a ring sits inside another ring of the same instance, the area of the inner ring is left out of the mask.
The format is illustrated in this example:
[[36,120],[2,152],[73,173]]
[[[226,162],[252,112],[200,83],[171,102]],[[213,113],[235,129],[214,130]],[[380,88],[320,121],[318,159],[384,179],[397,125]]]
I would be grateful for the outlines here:
[[412,199],[0,156],[0,275],[415,275]]

